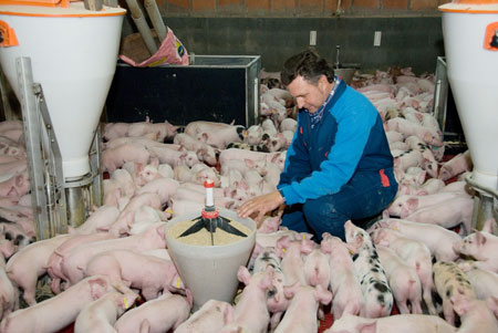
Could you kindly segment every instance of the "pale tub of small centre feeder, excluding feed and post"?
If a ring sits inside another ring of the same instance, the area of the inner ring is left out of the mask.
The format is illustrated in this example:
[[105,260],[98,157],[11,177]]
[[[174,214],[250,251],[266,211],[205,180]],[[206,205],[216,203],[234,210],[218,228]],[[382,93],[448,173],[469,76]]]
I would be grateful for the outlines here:
[[251,230],[248,237],[224,246],[194,246],[169,237],[169,229],[181,221],[200,216],[193,212],[172,219],[166,227],[168,252],[178,273],[194,298],[193,311],[198,310],[209,300],[231,303],[239,281],[237,271],[246,266],[256,243],[257,225],[252,219],[242,219],[237,212],[220,209],[221,217],[235,220]]

